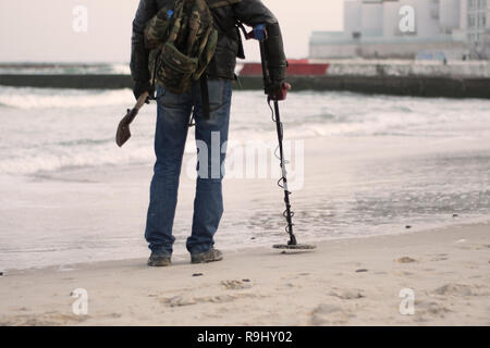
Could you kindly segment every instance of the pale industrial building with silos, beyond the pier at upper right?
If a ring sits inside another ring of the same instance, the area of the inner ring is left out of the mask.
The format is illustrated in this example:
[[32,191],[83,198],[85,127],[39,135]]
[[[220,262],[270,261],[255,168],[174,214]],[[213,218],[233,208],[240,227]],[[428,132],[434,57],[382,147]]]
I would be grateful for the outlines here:
[[490,0],[346,0],[343,32],[314,32],[313,59],[490,58]]

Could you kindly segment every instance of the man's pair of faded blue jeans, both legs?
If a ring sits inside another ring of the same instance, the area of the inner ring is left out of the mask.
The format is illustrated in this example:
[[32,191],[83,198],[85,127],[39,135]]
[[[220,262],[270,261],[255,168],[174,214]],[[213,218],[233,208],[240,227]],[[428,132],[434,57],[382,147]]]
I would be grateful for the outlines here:
[[221,165],[225,160],[232,84],[230,80],[209,79],[208,87],[210,120],[203,117],[199,83],[195,83],[183,95],[173,94],[162,87],[157,90],[157,163],[150,188],[145,237],[151,251],[159,254],[171,256],[173,252],[175,238],[172,228],[179,179],[192,115],[196,121],[199,175],[187,250],[192,254],[201,253],[209,251],[215,245],[213,236],[223,214]]

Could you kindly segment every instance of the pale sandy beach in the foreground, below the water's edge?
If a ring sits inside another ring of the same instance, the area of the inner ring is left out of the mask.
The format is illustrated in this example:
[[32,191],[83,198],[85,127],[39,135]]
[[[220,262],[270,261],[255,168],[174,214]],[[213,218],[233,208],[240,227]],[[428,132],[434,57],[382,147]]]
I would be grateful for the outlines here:
[[[12,271],[0,278],[1,325],[489,325],[490,224],[268,248],[192,265],[143,259]],[[88,294],[75,315],[70,295]],[[402,315],[402,289],[414,314]]]

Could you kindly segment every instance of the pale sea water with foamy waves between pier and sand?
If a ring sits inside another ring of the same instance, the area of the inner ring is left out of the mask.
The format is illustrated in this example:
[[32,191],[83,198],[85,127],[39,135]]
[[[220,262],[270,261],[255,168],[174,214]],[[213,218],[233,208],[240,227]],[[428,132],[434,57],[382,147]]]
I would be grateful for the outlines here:
[[[149,173],[156,105],[142,110],[121,150],[115,126],[133,99],[128,89],[0,87],[0,269],[146,256],[149,178],[119,169]],[[291,94],[282,103],[285,137],[307,145],[304,187],[293,195],[298,235],[348,238],[486,220],[489,110],[479,99]],[[261,92],[234,92],[230,137],[277,139]],[[186,152],[194,148],[191,136]],[[222,246],[285,239],[274,183],[232,181]],[[125,192],[137,209],[121,201]],[[175,221],[181,252],[189,202]]]

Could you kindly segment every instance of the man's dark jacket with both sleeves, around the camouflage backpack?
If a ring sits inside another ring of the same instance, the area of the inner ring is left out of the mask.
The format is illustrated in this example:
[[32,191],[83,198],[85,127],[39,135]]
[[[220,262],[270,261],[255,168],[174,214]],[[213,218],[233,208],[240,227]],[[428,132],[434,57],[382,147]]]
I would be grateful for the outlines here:
[[[148,70],[149,51],[145,48],[144,30],[147,22],[157,12],[174,0],[140,0],[136,16],[133,21],[131,72],[136,83],[150,79]],[[234,78],[236,55],[240,47],[238,33],[234,24],[240,21],[250,27],[266,24],[270,33],[277,33],[277,39],[266,41],[266,50],[273,52],[269,58],[269,70],[272,79],[285,77],[286,60],[282,45],[278,20],[266,8],[261,0],[208,0],[215,16],[215,25],[219,33],[216,54],[208,66],[210,78]],[[218,8],[213,8],[219,5]],[[224,5],[223,5],[224,4]]]

